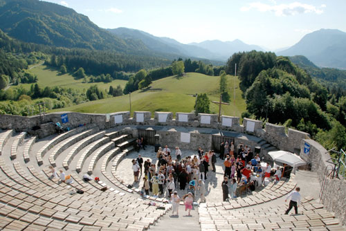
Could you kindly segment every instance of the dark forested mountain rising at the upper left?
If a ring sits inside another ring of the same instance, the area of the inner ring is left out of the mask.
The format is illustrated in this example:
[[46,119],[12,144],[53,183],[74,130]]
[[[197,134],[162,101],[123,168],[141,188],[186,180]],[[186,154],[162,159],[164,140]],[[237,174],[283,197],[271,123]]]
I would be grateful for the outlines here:
[[95,50],[147,50],[140,41],[120,39],[71,8],[38,0],[1,0],[0,28],[21,41]]

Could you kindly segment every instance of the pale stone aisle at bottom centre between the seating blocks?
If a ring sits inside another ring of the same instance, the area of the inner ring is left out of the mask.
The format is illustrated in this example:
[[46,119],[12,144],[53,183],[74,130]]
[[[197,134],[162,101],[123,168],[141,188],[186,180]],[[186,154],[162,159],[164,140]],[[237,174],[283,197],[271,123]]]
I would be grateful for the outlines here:
[[151,231],[172,231],[172,230],[185,230],[185,231],[200,231],[198,207],[194,206],[191,211],[192,216],[187,216],[185,212],[185,205],[179,207],[179,217],[171,216],[172,210],[168,211],[155,225],[150,226]]

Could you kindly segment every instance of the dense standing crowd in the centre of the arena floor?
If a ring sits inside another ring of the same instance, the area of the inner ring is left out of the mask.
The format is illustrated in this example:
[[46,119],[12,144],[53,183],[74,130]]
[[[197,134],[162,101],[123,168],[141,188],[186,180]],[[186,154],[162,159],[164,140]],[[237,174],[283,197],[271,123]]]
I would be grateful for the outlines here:
[[[181,150],[175,147],[174,154],[167,145],[158,148],[157,161],[152,163],[150,159],[138,158],[132,160],[134,181],[138,182],[138,176],[143,175],[143,185],[140,185],[143,195],[171,197],[175,190],[186,190],[192,196],[199,194],[201,201],[206,201],[206,186],[204,181],[208,172],[216,172],[216,154],[210,150],[203,154],[199,148],[195,156],[181,158]],[[174,156],[174,157],[172,157]],[[142,170],[143,169],[143,170]]]

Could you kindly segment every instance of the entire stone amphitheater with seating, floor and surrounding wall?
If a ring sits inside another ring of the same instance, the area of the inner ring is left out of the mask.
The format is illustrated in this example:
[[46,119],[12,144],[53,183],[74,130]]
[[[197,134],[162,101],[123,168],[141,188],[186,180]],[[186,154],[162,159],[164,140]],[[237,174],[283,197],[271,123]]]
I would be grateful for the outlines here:
[[[62,122],[69,131],[55,133]],[[330,158],[308,133],[262,121],[193,113],[129,111],[110,114],[49,113],[33,117],[0,115],[1,230],[345,230],[346,183],[325,172]],[[298,169],[290,178],[269,183],[251,195],[222,201],[223,169],[208,176],[206,203],[186,216],[170,216],[165,196],[142,198],[131,184],[128,165],[136,157],[134,141],[147,140],[143,158],[154,160],[154,145],[179,146],[183,156],[198,147],[217,151],[222,140],[251,148],[299,154],[311,171]],[[309,151],[304,151],[309,147]],[[48,166],[63,169],[73,183],[50,178]],[[82,181],[89,174],[100,181]],[[298,215],[285,215],[286,194],[301,187]],[[107,190],[101,190],[107,187]],[[76,194],[83,190],[84,194]]]

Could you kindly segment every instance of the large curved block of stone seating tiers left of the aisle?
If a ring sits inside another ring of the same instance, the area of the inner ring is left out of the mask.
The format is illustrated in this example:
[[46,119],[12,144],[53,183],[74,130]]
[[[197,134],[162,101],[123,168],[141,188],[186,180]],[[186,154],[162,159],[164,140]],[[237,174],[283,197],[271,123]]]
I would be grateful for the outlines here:
[[[103,192],[102,181],[82,180],[86,172],[93,177],[93,168],[104,155],[102,173],[107,175],[107,165],[125,147],[116,145],[127,142],[123,134],[116,134],[122,139],[114,142],[104,131],[85,127],[39,142],[36,137],[25,140],[24,133],[1,132],[1,150],[6,151],[0,156],[0,230],[145,230],[154,225],[170,205],[149,205],[149,200],[116,185],[107,185]],[[126,138],[132,145],[133,138]],[[9,139],[12,142],[6,143]],[[123,151],[133,149],[128,147]],[[18,152],[17,158],[12,150]],[[80,174],[74,162],[80,164]],[[69,169],[71,185],[51,176],[48,166],[54,164]]]

